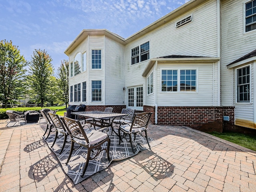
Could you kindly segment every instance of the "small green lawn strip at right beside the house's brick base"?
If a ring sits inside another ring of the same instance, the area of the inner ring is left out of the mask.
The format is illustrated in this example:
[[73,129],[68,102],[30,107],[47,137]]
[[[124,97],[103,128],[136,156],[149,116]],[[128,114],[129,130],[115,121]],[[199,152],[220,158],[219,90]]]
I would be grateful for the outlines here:
[[225,133],[211,132],[209,134],[256,151],[255,135],[234,133],[234,132],[225,132]]

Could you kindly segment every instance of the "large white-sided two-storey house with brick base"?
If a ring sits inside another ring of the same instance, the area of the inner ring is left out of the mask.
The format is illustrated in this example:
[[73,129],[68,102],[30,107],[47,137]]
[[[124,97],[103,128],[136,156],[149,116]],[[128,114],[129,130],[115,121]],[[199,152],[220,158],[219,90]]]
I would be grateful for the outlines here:
[[255,55],[246,56],[256,49],[254,10],[256,0],[190,0],[126,39],[82,30],[65,50],[69,104],[150,111],[152,123],[206,131],[256,128]]

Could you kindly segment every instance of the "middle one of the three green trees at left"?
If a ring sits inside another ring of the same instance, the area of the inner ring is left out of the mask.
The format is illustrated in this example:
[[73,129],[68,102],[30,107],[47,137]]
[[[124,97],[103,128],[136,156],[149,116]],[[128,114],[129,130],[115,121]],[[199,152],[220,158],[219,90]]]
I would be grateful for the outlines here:
[[29,63],[28,83],[30,91],[37,96],[41,107],[44,106],[51,93],[51,77],[53,76],[52,58],[46,50],[36,50],[33,52],[32,60]]

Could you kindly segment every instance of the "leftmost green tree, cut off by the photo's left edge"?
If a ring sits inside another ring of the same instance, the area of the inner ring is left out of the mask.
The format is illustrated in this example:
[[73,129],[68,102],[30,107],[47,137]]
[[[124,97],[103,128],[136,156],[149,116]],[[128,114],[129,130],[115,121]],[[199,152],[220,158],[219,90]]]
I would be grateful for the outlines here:
[[18,46],[12,41],[0,41],[0,100],[4,107],[8,101],[18,99],[24,92],[24,74],[26,60],[20,54]]

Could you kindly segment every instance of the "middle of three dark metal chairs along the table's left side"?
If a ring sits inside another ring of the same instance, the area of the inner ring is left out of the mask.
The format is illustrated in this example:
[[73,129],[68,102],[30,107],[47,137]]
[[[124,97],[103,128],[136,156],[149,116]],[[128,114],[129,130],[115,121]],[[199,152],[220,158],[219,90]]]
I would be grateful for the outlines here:
[[[54,127],[56,128],[55,138],[54,138],[54,141],[53,141],[51,147],[54,146],[57,138],[61,138],[64,136],[64,142],[63,142],[62,148],[60,150],[60,154],[61,154],[65,147],[65,144],[67,142],[67,138],[68,138],[69,134],[68,134],[68,131],[66,130],[60,116],[58,116],[57,114],[50,113],[50,112],[48,112],[48,115],[49,115],[50,119],[52,120]],[[62,134],[60,137],[58,137],[59,133]]]

